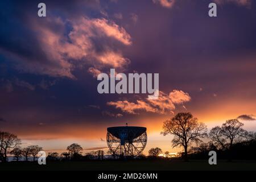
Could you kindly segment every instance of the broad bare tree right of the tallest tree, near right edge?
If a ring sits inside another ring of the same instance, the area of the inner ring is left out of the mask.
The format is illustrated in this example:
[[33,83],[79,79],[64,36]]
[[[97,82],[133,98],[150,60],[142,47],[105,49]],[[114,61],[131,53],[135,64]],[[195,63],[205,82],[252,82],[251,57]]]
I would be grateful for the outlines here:
[[240,142],[247,137],[247,131],[242,129],[243,123],[237,119],[229,119],[222,126],[213,127],[209,137],[219,148],[231,150],[236,142]]

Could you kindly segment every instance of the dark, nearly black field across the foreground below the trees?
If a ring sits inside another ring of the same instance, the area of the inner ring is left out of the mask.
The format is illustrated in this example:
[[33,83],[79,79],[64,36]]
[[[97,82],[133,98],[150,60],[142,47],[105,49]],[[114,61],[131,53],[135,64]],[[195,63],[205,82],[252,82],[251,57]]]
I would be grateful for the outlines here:
[[104,160],[104,161],[66,161],[47,162],[39,165],[37,162],[0,163],[0,171],[11,170],[82,170],[82,171],[127,171],[127,170],[256,170],[256,162],[249,161],[218,161],[217,165],[209,165],[207,160]]

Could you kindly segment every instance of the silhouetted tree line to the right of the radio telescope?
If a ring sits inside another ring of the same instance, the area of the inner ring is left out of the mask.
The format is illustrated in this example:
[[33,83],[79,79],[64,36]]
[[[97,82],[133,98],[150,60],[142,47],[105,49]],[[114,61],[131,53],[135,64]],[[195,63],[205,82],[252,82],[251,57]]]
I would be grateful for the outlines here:
[[[173,118],[163,122],[161,134],[172,135],[172,147],[182,147],[181,155],[186,161],[188,155],[205,157],[211,150],[218,151],[222,156],[225,154],[226,158],[231,160],[234,154],[242,158],[242,155],[251,153],[250,156],[253,156],[256,152],[256,133],[246,131],[242,128],[243,125],[238,119],[229,119],[221,126],[213,127],[207,133],[207,126],[199,122],[191,113],[177,113]],[[203,138],[209,142],[203,142]],[[250,151],[243,150],[245,148]],[[240,156],[237,154],[238,151],[240,151]],[[162,150],[158,147],[148,151],[151,156],[158,156],[161,153]]]

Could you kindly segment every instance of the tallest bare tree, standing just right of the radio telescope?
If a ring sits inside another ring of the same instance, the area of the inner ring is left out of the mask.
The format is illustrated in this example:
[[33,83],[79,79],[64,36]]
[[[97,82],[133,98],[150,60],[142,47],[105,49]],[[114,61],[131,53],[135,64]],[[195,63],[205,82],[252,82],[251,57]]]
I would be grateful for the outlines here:
[[174,135],[172,145],[184,148],[184,159],[187,161],[189,145],[193,142],[202,142],[200,138],[207,137],[207,126],[191,113],[177,113],[175,117],[164,121],[161,134]]

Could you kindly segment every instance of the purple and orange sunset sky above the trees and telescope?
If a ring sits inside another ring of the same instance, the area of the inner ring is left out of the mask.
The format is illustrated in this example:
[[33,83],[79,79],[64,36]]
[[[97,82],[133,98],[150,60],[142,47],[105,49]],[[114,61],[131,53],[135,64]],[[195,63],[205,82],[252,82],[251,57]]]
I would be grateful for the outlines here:
[[[212,127],[256,131],[256,3],[251,0],[0,2],[0,130],[63,151],[108,150],[106,128],[147,127],[176,152],[163,121],[191,112]],[[210,2],[217,17],[208,16]],[[159,73],[158,100],[99,94],[99,73]]]

